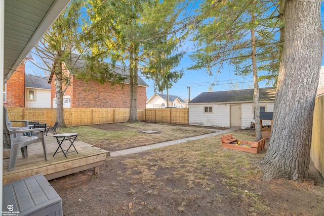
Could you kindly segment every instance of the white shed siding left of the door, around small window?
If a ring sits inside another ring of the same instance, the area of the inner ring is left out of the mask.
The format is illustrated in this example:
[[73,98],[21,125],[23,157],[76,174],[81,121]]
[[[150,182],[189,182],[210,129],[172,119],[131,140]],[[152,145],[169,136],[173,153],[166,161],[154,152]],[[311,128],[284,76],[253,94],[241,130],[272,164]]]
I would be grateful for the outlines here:
[[[212,106],[213,113],[204,113],[204,107]],[[228,104],[189,104],[189,125],[229,127]]]

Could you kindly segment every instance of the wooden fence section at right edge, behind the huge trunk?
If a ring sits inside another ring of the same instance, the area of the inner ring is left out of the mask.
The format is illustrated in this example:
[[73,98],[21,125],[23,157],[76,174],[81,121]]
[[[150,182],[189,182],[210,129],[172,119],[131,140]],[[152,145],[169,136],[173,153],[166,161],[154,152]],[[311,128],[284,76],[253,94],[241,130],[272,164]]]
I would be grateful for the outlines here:
[[324,95],[315,99],[310,157],[316,169],[324,176]]

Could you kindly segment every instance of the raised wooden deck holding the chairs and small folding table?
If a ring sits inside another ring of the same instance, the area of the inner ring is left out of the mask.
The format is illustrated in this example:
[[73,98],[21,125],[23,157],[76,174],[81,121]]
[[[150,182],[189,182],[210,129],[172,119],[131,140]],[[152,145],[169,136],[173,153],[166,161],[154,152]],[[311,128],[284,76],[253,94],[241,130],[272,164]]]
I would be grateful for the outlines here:
[[[104,165],[106,157],[109,156],[109,151],[76,139],[73,144],[78,154],[72,152],[65,157],[62,152],[58,152],[53,157],[58,147],[56,139],[53,136],[46,137],[45,142],[48,161],[45,160],[41,142],[28,145],[28,157],[23,158],[19,154],[13,171],[8,171],[9,159],[4,159],[3,185],[37,174],[43,174],[47,180],[51,180],[91,168],[94,168],[94,173],[98,173],[99,166]],[[64,141],[63,149],[67,149],[68,146],[69,142]]]

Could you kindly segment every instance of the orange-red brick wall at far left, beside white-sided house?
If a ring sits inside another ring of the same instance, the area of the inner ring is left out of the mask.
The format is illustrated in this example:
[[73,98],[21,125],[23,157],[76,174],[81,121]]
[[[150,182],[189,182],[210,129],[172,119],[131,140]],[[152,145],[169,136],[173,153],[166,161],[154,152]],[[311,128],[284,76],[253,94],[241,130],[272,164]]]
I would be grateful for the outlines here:
[[25,61],[23,61],[7,83],[6,107],[25,107]]

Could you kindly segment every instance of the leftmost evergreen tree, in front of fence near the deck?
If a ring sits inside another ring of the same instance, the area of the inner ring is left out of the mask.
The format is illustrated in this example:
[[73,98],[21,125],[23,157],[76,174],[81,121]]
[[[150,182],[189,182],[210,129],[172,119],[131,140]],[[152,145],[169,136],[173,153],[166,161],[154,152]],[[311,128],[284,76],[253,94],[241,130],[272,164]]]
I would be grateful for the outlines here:
[[[71,76],[64,69],[67,67],[66,69],[71,70],[73,67],[70,64],[73,58],[72,52],[82,53],[86,47],[79,42],[82,35],[79,31],[82,6],[82,0],[73,0],[32,50],[32,53],[43,61],[45,65],[43,69],[49,71],[50,76],[55,75],[59,127],[66,127],[63,116],[63,95]],[[76,59],[73,60],[75,61]],[[66,86],[64,89],[63,84]]]

